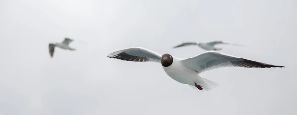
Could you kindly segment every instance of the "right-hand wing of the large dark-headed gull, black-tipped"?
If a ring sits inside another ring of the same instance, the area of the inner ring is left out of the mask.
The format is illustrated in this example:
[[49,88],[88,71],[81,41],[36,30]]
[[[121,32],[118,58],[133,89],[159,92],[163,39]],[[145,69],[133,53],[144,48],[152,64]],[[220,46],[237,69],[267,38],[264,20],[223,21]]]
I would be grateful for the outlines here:
[[182,63],[201,73],[203,71],[221,68],[221,67],[246,67],[246,68],[271,68],[284,67],[261,63],[253,60],[235,57],[215,51],[208,51],[197,56],[182,60]]

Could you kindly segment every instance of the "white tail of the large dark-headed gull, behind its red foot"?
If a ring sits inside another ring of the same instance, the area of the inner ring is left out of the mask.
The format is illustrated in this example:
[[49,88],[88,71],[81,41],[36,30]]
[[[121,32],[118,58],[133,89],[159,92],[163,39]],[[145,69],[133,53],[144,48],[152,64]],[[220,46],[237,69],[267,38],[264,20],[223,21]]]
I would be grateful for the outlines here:
[[[199,80],[199,82],[197,83],[198,85],[201,85],[203,90],[206,90],[206,91],[209,91],[209,90],[212,90],[218,86],[220,86],[218,83],[215,83],[213,81],[210,81],[210,80],[207,80],[205,78],[202,78],[200,77],[201,79]],[[193,85],[189,85],[191,88],[193,89],[196,89],[196,90],[199,90],[197,89],[195,86]]]

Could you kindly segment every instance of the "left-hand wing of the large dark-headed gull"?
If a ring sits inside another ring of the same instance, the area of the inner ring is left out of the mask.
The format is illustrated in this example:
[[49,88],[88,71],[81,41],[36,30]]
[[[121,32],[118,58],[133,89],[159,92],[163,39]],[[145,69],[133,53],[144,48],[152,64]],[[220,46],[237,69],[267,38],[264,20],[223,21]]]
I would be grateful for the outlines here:
[[109,54],[107,57],[125,61],[135,62],[158,62],[161,63],[162,56],[145,48],[135,47],[119,50]]

